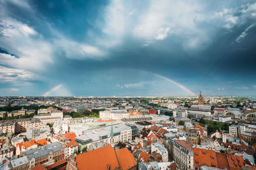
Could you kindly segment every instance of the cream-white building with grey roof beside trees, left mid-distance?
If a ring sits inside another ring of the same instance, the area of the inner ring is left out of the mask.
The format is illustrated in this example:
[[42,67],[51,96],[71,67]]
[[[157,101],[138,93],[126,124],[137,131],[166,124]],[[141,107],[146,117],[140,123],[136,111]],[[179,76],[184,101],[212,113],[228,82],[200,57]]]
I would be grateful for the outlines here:
[[55,111],[48,114],[38,114],[38,115],[35,115],[34,118],[39,118],[41,122],[44,122],[45,124],[47,123],[53,124],[54,122],[56,122],[56,120],[63,119],[63,112]]

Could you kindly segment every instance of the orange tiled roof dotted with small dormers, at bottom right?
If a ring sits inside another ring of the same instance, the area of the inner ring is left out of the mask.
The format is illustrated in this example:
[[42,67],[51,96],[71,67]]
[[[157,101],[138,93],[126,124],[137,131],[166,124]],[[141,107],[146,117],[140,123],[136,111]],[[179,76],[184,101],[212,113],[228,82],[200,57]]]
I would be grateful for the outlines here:
[[216,153],[214,150],[193,148],[194,166],[209,166],[218,168]]

